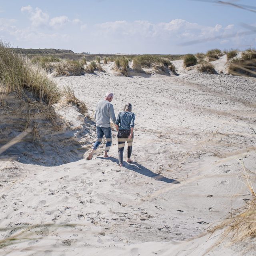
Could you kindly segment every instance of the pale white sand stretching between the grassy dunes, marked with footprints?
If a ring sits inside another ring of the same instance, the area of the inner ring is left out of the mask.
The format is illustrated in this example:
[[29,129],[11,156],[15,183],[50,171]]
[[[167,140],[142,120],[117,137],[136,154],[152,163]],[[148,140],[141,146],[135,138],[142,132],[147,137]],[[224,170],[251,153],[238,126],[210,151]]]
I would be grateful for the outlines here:
[[[50,156],[49,166],[0,160],[0,239],[24,226],[18,238],[33,238],[2,248],[3,255],[201,256],[221,235],[208,240],[207,228],[250,199],[242,195],[248,191],[239,159],[248,168],[255,162],[255,78],[182,66],[180,76],[124,78],[107,67],[55,79],[92,109],[108,90],[116,114],[132,103],[134,163],[118,167],[116,132],[110,159],[102,158],[102,145],[91,161],[58,166]],[[76,124],[72,109],[60,111],[73,113]],[[90,144],[95,138],[92,129],[84,135]],[[243,245],[223,243],[206,255],[250,255]]]

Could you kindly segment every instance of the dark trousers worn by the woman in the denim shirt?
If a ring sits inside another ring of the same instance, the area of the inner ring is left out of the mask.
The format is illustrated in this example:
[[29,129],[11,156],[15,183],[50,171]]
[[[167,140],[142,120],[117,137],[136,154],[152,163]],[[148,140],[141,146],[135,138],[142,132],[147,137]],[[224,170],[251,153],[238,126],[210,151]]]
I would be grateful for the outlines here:
[[132,142],[133,142],[133,134],[132,138],[129,139],[131,130],[119,130],[117,134],[117,142],[118,142],[118,158],[119,164],[123,163],[123,155],[124,155],[124,145],[125,141],[127,141],[128,149],[127,149],[127,158],[131,157],[132,154]]

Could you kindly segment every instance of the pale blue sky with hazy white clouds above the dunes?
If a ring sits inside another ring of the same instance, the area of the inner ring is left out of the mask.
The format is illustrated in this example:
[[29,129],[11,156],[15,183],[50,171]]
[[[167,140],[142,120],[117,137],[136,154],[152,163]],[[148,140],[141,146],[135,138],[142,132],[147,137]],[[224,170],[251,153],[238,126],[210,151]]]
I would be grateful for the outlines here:
[[[255,47],[256,34],[228,37],[248,31],[242,23],[256,26],[255,18],[255,12],[192,0],[12,0],[0,3],[0,38],[19,48],[184,54]],[[202,42],[186,45],[193,40]]]

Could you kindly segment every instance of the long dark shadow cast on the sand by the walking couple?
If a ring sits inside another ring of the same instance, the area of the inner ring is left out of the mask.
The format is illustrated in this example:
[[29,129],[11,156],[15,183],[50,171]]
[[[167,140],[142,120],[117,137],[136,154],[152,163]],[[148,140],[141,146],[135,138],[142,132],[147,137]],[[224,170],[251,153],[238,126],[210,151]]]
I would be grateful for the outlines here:
[[[105,160],[109,159],[112,162],[119,164],[118,159],[116,159],[114,157],[108,157],[108,158],[96,157],[96,158],[105,159]],[[163,182],[166,182],[166,183],[180,184],[180,182],[178,180],[169,179],[169,178],[166,178],[166,177],[164,177],[160,174],[156,174],[156,173],[150,171],[145,166],[143,166],[141,164],[138,164],[137,162],[132,162],[132,163],[124,162],[123,167],[128,169],[128,170],[132,170],[134,172],[138,172],[142,175],[148,176],[150,178],[154,178],[155,180],[160,180],[160,181],[163,181]]]

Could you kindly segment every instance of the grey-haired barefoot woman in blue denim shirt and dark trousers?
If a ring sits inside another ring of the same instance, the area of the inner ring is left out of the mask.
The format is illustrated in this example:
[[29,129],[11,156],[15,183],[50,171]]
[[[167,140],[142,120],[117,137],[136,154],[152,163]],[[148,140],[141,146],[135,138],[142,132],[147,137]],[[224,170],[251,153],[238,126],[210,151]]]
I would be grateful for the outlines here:
[[123,166],[124,145],[127,141],[127,162],[132,162],[130,159],[132,154],[133,130],[134,130],[135,114],[132,113],[132,104],[127,103],[124,106],[124,111],[118,113],[115,126],[118,130],[118,158],[119,166]]

